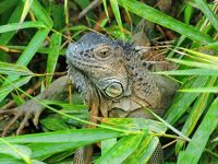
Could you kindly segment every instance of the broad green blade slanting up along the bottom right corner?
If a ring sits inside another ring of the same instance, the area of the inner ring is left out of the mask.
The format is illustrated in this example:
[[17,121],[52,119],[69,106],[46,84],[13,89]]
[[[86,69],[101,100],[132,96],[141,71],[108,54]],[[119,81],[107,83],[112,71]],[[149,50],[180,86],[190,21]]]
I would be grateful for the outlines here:
[[218,97],[210,105],[203,121],[194,133],[186,150],[179,154],[178,164],[197,164],[209,140],[209,136],[218,126]]

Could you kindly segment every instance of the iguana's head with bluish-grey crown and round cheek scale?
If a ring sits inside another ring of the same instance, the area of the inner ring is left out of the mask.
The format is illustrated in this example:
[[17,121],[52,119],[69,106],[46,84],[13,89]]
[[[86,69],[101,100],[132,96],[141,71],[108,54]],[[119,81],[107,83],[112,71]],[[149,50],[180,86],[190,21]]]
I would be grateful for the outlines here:
[[121,42],[88,33],[68,48],[69,73],[74,80],[77,78],[82,91],[86,90],[88,80],[107,97],[120,97],[128,87],[125,50]]

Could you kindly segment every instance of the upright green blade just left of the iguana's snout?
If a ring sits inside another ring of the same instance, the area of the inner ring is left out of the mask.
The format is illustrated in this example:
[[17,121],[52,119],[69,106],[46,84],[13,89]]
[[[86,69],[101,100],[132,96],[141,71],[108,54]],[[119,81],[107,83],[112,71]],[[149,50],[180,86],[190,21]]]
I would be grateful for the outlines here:
[[[49,47],[48,60],[47,60],[47,73],[53,73],[56,70],[59,51],[61,49],[61,35],[53,33],[51,35],[51,43]],[[46,85],[48,86],[51,82],[52,77],[46,77]]]

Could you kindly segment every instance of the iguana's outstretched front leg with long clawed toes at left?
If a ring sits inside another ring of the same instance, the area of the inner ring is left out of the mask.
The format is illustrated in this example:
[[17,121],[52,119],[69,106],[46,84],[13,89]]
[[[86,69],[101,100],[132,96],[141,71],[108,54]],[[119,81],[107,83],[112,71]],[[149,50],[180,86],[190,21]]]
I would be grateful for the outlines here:
[[[36,96],[38,101],[43,99],[56,99],[62,101],[69,96],[68,94],[68,75],[62,77],[53,81],[48,89],[46,89],[43,93]],[[45,106],[41,104],[29,99],[23,105],[15,107],[13,109],[2,109],[0,110],[0,116],[3,115],[14,115],[9,125],[3,129],[2,136],[7,136],[10,128],[20,119],[23,118],[20,124],[19,129],[16,130],[16,134],[20,134],[22,129],[26,126],[29,119],[33,120],[34,125],[37,127],[38,119],[41,112],[45,109]]]

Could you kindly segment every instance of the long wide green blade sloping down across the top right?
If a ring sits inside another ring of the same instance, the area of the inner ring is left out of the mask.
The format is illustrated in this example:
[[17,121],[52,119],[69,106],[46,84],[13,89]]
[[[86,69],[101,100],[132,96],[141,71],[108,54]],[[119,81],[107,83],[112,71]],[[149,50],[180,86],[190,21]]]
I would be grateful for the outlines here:
[[193,40],[205,43],[205,44],[214,43],[214,40],[209,36],[202,34],[199,31],[195,30],[193,26],[186,25],[136,0],[118,0],[118,2],[123,8],[130,10],[131,12],[148,21],[155,22],[172,31],[175,31]]

